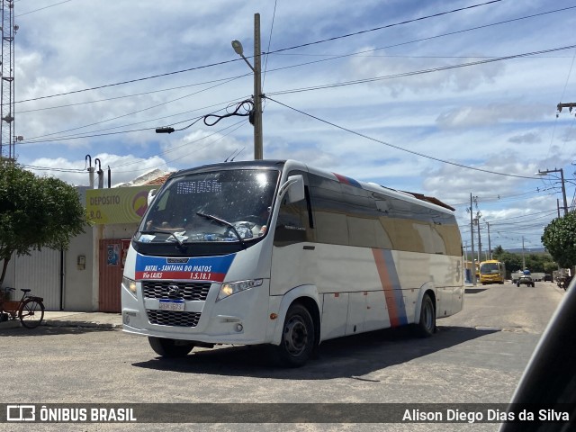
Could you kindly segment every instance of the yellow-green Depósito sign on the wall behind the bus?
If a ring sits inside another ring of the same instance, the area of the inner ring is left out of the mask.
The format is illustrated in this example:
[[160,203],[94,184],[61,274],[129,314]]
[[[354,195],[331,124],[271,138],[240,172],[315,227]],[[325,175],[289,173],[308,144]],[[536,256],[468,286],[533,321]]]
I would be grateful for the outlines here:
[[86,216],[97,224],[138,223],[148,208],[148,192],[158,185],[88,189]]

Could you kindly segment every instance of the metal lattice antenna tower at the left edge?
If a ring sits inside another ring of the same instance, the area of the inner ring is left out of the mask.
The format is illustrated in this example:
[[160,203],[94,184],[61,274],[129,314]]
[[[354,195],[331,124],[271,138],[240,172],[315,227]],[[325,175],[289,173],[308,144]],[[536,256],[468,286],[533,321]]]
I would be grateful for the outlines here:
[[0,86],[0,158],[14,161],[14,0],[2,1],[2,85]]

